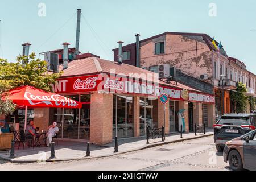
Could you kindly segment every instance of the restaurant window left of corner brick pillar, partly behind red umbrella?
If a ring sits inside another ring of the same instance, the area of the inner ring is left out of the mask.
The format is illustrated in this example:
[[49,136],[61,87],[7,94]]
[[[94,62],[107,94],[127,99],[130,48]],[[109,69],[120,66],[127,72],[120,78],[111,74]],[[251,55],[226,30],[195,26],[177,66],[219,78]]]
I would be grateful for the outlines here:
[[64,139],[89,139],[90,138],[90,95],[65,96],[82,103],[81,109],[50,110],[49,125],[53,121],[59,127],[59,137]]

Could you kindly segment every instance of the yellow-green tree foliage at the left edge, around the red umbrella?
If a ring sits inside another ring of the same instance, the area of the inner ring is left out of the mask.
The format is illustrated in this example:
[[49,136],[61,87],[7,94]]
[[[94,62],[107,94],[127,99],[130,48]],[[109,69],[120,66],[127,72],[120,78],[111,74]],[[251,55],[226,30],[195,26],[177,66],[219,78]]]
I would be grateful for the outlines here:
[[[51,84],[62,74],[63,72],[47,73],[47,62],[36,59],[35,53],[29,56],[19,55],[15,63],[0,59],[0,97],[8,94],[7,90],[24,85],[52,91]],[[0,114],[11,113],[14,107],[11,101],[1,99]]]

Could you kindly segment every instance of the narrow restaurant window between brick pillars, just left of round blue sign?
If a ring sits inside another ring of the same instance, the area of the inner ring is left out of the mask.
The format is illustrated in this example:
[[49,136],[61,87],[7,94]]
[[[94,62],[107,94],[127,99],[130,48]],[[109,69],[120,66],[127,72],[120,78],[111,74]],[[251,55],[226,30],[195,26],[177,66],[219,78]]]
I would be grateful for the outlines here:
[[146,135],[147,127],[152,129],[152,108],[152,100],[145,97],[139,99],[139,131],[141,136]]

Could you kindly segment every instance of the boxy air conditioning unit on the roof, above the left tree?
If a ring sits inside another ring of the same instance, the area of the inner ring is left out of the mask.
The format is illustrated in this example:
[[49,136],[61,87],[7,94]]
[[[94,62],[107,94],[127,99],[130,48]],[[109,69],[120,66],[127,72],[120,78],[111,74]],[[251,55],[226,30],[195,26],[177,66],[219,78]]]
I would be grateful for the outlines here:
[[44,53],[44,60],[47,61],[47,70],[58,72],[58,65],[59,65],[59,54],[53,52],[46,52]]

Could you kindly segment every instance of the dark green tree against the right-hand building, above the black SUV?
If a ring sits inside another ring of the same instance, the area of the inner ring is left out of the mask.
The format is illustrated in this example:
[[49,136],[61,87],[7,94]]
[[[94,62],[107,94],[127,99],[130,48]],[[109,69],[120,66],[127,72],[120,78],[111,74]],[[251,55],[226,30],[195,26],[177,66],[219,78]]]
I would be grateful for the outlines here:
[[246,86],[242,82],[238,82],[236,92],[231,92],[231,100],[233,101],[237,113],[245,113],[248,97],[246,96]]

